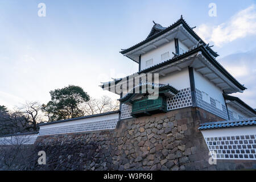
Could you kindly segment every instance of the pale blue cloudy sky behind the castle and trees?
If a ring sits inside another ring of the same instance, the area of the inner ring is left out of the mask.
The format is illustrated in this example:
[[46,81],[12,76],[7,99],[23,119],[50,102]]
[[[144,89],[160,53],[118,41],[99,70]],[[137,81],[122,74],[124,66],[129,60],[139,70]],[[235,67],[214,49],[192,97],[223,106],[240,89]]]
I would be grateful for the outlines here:
[[[40,17],[39,3],[46,5]],[[216,16],[209,16],[210,3]],[[0,105],[47,104],[49,91],[81,86],[91,97],[119,96],[98,85],[138,71],[119,53],[144,40],[152,20],[180,18],[214,45],[217,60],[247,90],[233,94],[256,107],[256,1],[0,0]]]

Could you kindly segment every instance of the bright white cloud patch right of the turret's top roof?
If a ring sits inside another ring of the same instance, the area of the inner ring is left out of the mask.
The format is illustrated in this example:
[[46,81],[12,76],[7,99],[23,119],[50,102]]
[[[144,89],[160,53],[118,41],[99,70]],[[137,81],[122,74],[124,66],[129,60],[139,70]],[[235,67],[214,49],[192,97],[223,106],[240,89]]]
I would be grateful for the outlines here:
[[201,24],[197,28],[198,34],[207,42],[221,47],[225,43],[232,42],[248,35],[256,35],[256,7],[251,5],[233,15],[228,22],[217,26]]

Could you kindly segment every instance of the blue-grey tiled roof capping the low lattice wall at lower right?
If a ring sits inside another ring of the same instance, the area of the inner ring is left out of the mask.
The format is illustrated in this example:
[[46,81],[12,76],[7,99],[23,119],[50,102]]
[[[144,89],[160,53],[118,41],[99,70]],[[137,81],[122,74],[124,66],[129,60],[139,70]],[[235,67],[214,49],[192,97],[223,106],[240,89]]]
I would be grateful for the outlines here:
[[241,126],[254,126],[256,125],[256,118],[238,119],[233,121],[218,121],[203,123],[198,128],[199,130],[221,129],[226,127],[241,127]]

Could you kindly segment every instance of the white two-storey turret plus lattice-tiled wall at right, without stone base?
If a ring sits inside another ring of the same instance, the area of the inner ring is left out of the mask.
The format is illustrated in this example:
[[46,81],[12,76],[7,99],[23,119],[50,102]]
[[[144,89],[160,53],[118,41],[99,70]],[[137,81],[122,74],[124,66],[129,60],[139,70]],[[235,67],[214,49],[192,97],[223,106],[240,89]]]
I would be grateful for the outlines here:
[[218,63],[213,46],[182,15],[168,27],[153,23],[146,39],[120,52],[138,63],[138,72],[100,85],[119,94],[119,121],[198,108],[218,118],[216,122],[201,121],[199,127],[214,158],[255,160],[256,112],[230,96],[246,87]]

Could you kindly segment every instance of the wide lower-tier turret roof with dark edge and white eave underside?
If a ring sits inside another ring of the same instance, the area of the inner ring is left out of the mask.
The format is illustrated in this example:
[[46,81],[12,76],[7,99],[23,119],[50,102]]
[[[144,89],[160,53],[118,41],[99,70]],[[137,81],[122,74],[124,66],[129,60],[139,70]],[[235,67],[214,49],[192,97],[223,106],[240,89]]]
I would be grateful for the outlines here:
[[144,69],[134,75],[159,73],[160,76],[165,76],[168,73],[181,71],[188,67],[195,69],[196,72],[199,72],[226,94],[242,92],[246,89],[210,55],[205,46],[197,46],[183,55],[173,57],[171,60]]

